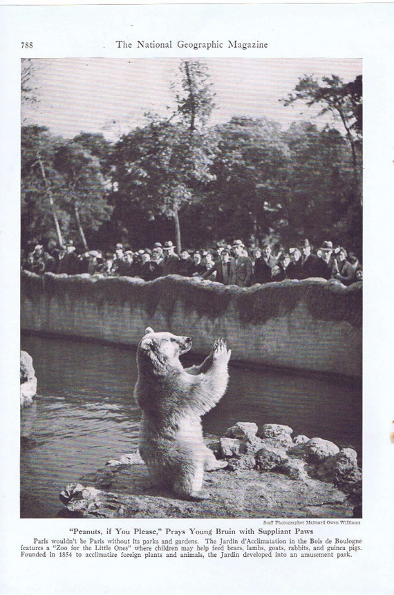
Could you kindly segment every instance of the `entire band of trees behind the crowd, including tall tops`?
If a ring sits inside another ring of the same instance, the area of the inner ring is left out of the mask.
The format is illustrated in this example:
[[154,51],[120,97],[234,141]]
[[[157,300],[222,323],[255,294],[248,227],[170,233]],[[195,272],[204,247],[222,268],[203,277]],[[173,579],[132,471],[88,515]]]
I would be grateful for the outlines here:
[[[22,89],[32,93],[24,62]],[[304,76],[282,100],[320,106],[341,122],[323,129],[301,122],[282,131],[246,116],[209,128],[214,93],[198,61],[180,63],[172,88],[172,115],[147,114],[115,145],[100,133],[71,141],[24,126],[22,237],[55,237],[58,220],[85,244],[84,232],[96,246],[116,238],[144,247],[173,238],[175,223],[178,249],[182,227],[185,247],[223,238],[290,246],[307,236],[316,247],[332,240],[362,254],[362,77]]]

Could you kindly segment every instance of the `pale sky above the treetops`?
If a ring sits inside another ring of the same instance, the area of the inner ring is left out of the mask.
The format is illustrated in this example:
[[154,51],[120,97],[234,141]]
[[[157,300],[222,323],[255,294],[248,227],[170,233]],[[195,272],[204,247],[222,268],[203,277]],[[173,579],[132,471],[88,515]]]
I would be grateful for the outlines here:
[[[297,120],[323,126],[318,109],[301,102],[279,102],[303,75],[318,79],[332,74],[344,82],[362,74],[360,59],[203,59],[216,93],[210,124],[235,115],[268,117],[283,129]],[[171,82],[179,75],[178,58],[32,59],[37,88],[33,106],[22,106],[24,124],[48,126],[50,132],[73,138],[80,132],[103,133],[109,140],[144,124],[144,113],[171,113]],[[167,106],[169,109],[167,109]],[[315,120],[314,120],[315,118]]]

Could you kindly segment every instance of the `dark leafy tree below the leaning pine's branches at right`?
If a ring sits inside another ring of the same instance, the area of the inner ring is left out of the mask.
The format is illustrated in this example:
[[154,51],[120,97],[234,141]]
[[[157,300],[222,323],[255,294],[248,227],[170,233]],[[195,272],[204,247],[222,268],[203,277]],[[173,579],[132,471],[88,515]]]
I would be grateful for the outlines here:
[[353,205],[352,154],[336,129],[293,123],[283,134],[288,145],[287,191],[283,194],[281,238],[301,237],[317,245],[324,239],[358,249],[359,230],[349,225]]

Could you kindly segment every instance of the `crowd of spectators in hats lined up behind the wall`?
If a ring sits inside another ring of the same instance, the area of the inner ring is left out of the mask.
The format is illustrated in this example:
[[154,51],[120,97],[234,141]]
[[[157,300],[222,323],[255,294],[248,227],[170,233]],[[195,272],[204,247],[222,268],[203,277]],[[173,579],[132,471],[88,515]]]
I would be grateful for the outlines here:
[[182,249],[179,255],[171,241],[138,250],[118,243],[106,254],[100,250],[79,254],[70,240],[61,248],[50,243],[46,250],[37,244],[23,259],[22,267],[37,274],[87,273],[140,277],[144,281],[178,274],[238,287],[311,277],[334,278],[344,285],[362,280],[362,265],[355,254],[348,254],[341,246],[333,247],[328,240],[314,252],[307,239],[288,249],[270,243],[245,247],[241,240],[234,240],[232,244],[219,242],[212,249]]

